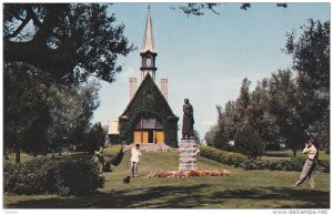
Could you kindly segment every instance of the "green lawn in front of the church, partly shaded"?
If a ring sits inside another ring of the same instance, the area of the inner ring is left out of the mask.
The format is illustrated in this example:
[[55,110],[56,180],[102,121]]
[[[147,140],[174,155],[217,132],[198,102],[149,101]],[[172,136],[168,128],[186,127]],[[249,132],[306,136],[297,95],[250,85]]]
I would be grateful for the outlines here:
[[151,171],[178,170],[178,153],[143,152],[140,176],[130,175],[129,153],[105,185],[90,196],[4,195],[6,208],[329,208],[330,174],[317,173],[316,191],[307,182],[293,187],[299,172],[244,171],[199,157],[199,170],[226,168],[223,177],[148,178]]

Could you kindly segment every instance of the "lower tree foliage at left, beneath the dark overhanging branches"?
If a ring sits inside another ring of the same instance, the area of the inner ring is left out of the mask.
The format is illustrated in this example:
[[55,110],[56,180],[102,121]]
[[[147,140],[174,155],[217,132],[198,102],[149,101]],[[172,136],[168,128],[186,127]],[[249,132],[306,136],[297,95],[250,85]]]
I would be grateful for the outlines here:
[[[38,71],[23,63],[7,63],[4,78],[4,152],[46,154],[84,140],[98,108],[95,82],[79,86],[44,84]],[[42,126],[41,126],[42,125]]]

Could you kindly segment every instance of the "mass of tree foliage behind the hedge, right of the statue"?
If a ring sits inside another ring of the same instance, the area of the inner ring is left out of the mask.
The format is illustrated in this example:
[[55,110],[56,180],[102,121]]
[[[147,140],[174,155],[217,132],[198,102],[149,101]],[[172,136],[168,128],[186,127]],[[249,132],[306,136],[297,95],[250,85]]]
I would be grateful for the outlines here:
[[229,143],[248,122],[264,144],[285,144],[294,156],[309,137],[330,152],[330,22],[310,20],[302,30],[297,40],[294,33],[287,34],[285,50],[296,75],[279,70],[252,92],[251,82],[244,79],[235,102],[229,101],[224,110],[216,106],[218,123],[205,135],[209,145],[232,150]]

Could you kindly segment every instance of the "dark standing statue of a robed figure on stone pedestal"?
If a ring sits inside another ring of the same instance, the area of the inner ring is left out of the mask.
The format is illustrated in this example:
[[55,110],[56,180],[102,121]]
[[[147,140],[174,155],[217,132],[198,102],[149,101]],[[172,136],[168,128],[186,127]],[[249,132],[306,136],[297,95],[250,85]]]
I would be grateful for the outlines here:
[[184,100],[185,104],[183,105],[183,127],[182,127],[182,139],[194,139],[193,132],[193,108],[190,104],[188,99]]

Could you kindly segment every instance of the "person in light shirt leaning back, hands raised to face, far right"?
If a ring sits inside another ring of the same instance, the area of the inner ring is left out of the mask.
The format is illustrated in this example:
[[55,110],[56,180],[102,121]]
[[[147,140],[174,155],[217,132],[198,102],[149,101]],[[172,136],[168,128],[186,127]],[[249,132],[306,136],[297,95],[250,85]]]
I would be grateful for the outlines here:
[[314,190],[314,176],[317,158],[317,150],[314,146],[314,140],[309,141],[303,150],[303,153],[307,154],[307,160],[305,161],[300,178],[294,186],[300,186],[306,180],[306,177],[309,177],[310,186],[312,190]]

